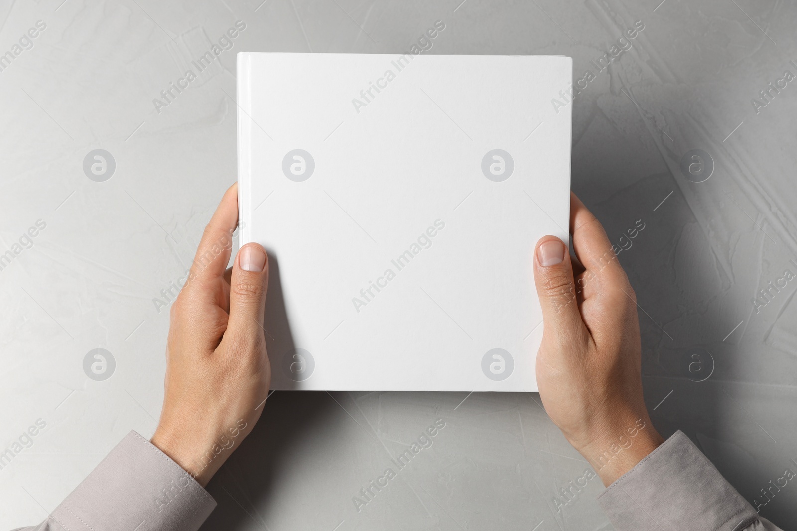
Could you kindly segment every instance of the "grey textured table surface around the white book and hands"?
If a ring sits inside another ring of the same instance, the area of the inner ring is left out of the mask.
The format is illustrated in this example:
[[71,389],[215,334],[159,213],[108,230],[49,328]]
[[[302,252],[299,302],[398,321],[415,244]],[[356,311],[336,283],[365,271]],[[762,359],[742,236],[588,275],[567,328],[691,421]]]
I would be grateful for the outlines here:
[[[153,299],[235,179],[234,54],[402,53],[438,20],[426,53],[574,57],[586,88],[562,102],[572,186],[631,244],[619,257],[654,424],[764,499],[797,459],[797,83],[784,77],[797,8],[660,1],[2,0],[0,451],[20,451],[0,470],[0,529],[41,521],[128,430],[154,431],[168,312]],[[231,49],[156,106],[239,20]],[[105,182],[84,174],[95,149],[116,162]],[[84,373],[96,348],[116,361],[104,381]],[[358,510],[352,498],[437,419],[434,444]],[[559,491],[586,468],[536,394],[277,392],[210,484],[219,506],[203,529],[612,529],[599,480]],[[788,529],[797,486],[761,513]]]

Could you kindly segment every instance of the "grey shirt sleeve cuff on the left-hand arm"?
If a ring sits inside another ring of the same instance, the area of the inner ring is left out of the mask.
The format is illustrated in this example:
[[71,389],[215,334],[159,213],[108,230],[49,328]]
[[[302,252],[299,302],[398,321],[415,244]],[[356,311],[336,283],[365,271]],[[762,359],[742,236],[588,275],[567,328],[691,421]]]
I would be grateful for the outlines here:
[[131,431],[37,531],[196,531],[216,502],[185,470]]

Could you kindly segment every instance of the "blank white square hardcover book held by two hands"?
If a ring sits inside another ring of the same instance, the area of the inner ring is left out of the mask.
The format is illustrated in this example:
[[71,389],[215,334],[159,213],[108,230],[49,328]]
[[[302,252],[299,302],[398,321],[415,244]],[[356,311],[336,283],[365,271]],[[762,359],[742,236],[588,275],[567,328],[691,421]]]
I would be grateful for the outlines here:
[[271,260],[272,388],[537,390],[532,260],[568,239],[571,72],[238,53],[241,244]]

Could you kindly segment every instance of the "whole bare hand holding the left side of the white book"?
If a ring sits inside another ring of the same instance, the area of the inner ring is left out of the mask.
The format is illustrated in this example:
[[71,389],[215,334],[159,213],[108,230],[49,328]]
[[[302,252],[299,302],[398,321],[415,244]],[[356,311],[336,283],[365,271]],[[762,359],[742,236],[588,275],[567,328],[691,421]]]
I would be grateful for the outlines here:
[[232,185],[171,306],[166,394],[151,439],[202,486],[252,430],[271,382],[262,327],[269,260],[246,244],[226,271],[236,225]]

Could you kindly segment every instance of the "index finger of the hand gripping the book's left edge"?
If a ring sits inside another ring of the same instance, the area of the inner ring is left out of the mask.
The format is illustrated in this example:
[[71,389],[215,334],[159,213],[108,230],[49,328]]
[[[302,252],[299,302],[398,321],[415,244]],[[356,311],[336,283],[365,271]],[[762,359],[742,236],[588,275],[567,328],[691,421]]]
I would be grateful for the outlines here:
[[199,242],[194,263],[191,264],[190,280],[200,284],[224,275],[230,252],[233,248],[233,232],[238,225],[238,184],[227,189],[210,218],[202,240]]

